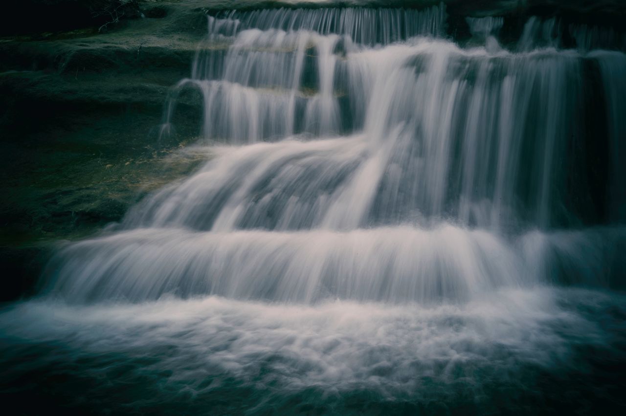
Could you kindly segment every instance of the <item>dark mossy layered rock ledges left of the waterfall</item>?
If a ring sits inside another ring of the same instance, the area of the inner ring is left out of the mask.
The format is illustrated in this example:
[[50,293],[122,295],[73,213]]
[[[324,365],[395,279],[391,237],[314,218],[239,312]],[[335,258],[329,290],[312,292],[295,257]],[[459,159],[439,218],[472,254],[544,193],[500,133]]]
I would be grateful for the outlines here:
[[181,97],[177,134],[159,141],[158,125],[168,89],[188,74],[204,13],[150,2],[145,19],[131,19],[131,1],[126,20],[98,33],[106,19],[93,11],[105,3],[27,0],[1,14],[0,30],[14,36],[0,42],[0,266],[9,282],[0,302],[32,293],[55,241],[120,220],[197,163],[168,160],[198,134],[195,97]]

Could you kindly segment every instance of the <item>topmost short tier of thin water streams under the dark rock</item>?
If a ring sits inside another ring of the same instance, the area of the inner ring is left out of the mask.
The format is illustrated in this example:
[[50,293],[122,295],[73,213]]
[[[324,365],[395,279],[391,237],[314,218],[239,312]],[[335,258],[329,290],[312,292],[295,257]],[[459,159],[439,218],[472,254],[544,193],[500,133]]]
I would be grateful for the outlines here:
[[[503,29],[509,46],[521,51],[543,46],[577,48],[582,51],[626,51],[626,32],[620,25],[607,21],[587,24],[581,23],[580,19],[568,18],[567,15],[558,18],[532,16],[526,24],[520,26],[523,14],[519,12],[513,15],[491,14],[483,18],[459,18],[449,16],[447,9],[444,3],[440,3],[439,6],[421,9],[326,7],[218,11],[208,16],[208,38],[223,40],[242,30],[276,29],[287,32],[312,31],[321,35],[337,34],[351,39],[353,43],[373,46],[406,41],[416,36],[454,38],[464,42],[468,40],[467,36],[481,38]],[[485,33],[485,29],[489,33]],[[516,41],[519,43],[516,44]]]

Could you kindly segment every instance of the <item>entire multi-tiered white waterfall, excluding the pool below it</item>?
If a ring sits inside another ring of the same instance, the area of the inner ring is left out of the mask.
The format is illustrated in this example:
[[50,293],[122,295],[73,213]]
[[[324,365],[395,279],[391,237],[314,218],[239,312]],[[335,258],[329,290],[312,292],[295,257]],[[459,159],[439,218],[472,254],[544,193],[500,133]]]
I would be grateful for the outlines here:
[[602,242],[584,227],[625,218],[626,56],[559,48],[560,23],[536,18],[513,50],[498,43],[502,18],[468,18],[478,43],[462,48],[442,36],[443,13],[208,16],[175,91],[201,91],[203,143],[226,145],[116,233],[59,251],[51,289],[79,302],[429,303],[614,280],[592,271],[626,233]]

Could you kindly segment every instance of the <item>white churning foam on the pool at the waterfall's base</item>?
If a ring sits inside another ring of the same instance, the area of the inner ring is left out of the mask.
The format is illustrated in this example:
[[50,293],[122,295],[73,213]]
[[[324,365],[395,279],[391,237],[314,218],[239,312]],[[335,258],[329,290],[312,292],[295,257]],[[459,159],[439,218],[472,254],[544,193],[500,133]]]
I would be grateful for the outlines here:
[[[270,387],[265,400],[306,388],[323,388],[331,397],[367,388],[388,400],[452,400],[454,390],[442,387],[474,380],[469,392],[484,402],[490,380],[528,388],[531,379],[511,380],[511,373],[529,365],[575,368],[580,362],[572,362],[572,343],[610,343],[592,316],[557,307],[555,298],[602,317],[613,302],[623,302],[548,289],[507,290],[434,308],[345,301],[268,305],[216,297],[80,307],[32,302],[4,314],[3,332],[23,342],[74,348],[69,355],[46,356],[49,362],[123,353],[85,368],[85,375],[120,371],[132,380],[165,373],[156,382],[168,395],[219,392],[236,377],[250,388]],[[135,367],[131,359],[141,357],[156,359]],[[489,377],[476,377],[485,371]]]

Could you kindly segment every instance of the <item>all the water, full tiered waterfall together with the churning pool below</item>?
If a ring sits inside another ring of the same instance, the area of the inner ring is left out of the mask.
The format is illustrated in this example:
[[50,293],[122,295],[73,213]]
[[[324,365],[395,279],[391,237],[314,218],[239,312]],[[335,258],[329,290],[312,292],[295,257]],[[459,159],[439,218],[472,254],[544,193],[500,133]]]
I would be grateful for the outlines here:
[[111,412],[623,405],[626,38],[466,24],[210,14],[162,135],[195,91],[212,157],[59,248],[0,316],[3,389]]

